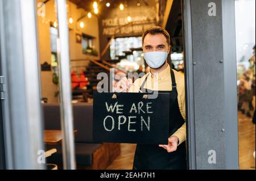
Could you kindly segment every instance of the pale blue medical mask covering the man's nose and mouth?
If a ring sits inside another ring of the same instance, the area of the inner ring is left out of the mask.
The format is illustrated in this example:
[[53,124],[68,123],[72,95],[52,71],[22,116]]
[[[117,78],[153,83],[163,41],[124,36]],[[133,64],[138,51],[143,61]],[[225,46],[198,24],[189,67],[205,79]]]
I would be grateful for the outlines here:
[[157,69],[164,64],[168,56],[167,52],[154,51],[144,53],[144,59],[147,62],[147,65],[153,69]]

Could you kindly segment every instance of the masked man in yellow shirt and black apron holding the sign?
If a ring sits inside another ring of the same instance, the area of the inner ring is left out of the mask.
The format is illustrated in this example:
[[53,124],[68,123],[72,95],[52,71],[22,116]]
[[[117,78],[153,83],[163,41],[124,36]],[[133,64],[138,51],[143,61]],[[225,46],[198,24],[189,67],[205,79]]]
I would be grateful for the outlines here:
[[[172,70],[167,63],[170,53],[170,35],[161,27],[152,27],[142,36],[144,59],[150,73],[134,83],[123,77],[116,91],[141,90],[170,93],[170,127],[168,145],[137,144],[133,169],[186,169],[186,126],[184,76]],[[154,85],[157,86],[154,86]],[[159,105],[164,106],[164,105]]]

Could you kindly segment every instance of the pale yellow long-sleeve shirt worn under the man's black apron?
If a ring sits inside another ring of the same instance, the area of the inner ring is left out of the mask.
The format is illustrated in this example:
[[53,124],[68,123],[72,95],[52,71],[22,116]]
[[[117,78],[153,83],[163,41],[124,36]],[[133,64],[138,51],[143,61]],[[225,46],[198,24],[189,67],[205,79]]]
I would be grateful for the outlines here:
[[[150,74],[150,75],[148,75]],[[147,77],[148,75],[148,77]],[[177,84],[177,100],[179,103],[180,113],[185,120],[185,89],[184,89],[184,75],[178,73],[174,70],[175,80]],[[144,85],[144,89],[159,90],[159,91],[171,91],[172,90],[172,80],[170,66],[158,73],[155,76],[152,73],[147,73],[142,78],[138,78],[133,85],[130,87],[129,92],[139,92],[144,79],[147,77],[147,82]],[[157,83],[157,84],[156,84]],[[177,136],[179,138],[179,144],[186,140],[186,125],[184,124],[177,129],[177,131],[172,134],[172,136]]]

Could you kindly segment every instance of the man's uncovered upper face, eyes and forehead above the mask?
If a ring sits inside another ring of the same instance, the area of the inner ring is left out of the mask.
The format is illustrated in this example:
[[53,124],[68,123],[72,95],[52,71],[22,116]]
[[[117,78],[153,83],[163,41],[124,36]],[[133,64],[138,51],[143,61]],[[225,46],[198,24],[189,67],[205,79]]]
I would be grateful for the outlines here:
[[162,51],[169,54],[170,47],[171,46],[168,45],[166,37],[163,34],[151,35],[150,33],[148,33],[144,37],[143,53]]

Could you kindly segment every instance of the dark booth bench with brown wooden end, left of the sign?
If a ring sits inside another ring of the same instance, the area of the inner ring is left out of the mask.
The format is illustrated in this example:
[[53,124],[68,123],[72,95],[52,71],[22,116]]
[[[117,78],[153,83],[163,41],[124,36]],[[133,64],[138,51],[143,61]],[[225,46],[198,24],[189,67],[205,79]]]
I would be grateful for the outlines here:
[[[61,129],[60,105],[44,103],[44,129]],[[77,169],[106,169],[120,154],[120,144],[93,143],[93,104],[73,104],[73,125]],[[47,162],[63,167],[61,144],[46,145],[47,149],[56,148],[57,152],[47,158]]]

